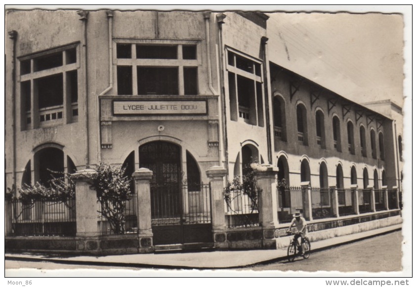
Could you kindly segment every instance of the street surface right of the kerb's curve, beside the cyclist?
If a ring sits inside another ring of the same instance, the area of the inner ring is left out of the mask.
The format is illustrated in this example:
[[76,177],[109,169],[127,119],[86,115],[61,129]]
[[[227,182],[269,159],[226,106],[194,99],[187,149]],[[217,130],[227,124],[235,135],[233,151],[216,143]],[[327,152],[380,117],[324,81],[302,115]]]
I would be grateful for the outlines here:
[[[293,271],[400,271],[401,231],[365,239],[351,244],[314,252],[310,258],[297,257],[294,262],[281,261],[240,270]],[[314,249],[314,243],[312,244]]]

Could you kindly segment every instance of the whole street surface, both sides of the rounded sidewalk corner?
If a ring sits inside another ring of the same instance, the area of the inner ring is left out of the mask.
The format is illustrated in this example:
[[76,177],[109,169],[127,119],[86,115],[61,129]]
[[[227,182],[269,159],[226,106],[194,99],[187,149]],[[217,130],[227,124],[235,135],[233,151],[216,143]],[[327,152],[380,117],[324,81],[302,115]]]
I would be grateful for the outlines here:
[[[258,265],[250,268],[235,269],[238,271],[262,271],[262,270],[279,270],[279,271],[400,271],[401,270],[401,231],[388,233],[374,238],[346,244],[323,251],[314,252],[309,259],[297,258],[292,263],[280,261],[267,265]],[[312,245],[314,248],[314,243]],[[111,267],[111,266],[94,266],[94,265],[77,265],[77,264],[59,264],[51,262],[29,262],[5,260],[5,273],[8,276],[7,269],[30,268],[50,271],[57,269],[69,269],[68,276],[89,276],[85,269],[95,269],[98,272],[106,272],[114,269],[119,272],[134,272],[141,270],[153,272],[156,269],[143,269],[133,267]],[[77,271],[74,269],[78,269]],[[83,270],[81,270],[83,269]],[[82,273],[80,273],[82,272]],[[83,275],[81,275],[83,274]],[[15,274],[14,274],[15,275]],[[100,276],[111,276],[108,272]],[[13,276],[13,275],[10,275]],[[150,275],[152,276],[152,275]]]

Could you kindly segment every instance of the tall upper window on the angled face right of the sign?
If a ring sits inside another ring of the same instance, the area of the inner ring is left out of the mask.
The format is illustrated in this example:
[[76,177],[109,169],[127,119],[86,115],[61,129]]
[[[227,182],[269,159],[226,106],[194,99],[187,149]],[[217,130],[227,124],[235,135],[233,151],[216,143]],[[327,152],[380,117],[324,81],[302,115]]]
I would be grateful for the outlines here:
[[230,119],[264,126],[262,62],[227,49]]

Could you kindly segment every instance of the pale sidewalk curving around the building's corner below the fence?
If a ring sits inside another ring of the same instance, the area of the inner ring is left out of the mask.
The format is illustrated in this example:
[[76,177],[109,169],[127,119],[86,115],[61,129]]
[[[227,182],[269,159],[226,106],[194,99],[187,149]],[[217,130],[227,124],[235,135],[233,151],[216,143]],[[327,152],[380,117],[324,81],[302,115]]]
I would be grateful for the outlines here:
[[[312,252],[333,246],[343,245],[389,233],[401,229],[401,224],[392,225],[376,230],[334,237],[322,241],[312,242]],[[206,251],[206,252],[178,252],[151,253],[108,256],[72,256],[60,257],[41,254],[11,254],[6,253],[5,260],[48,261],[65,264],[101,265],[137,268],[164,269],[226,269],[241,268],[255,264],[265,264],[285,259],[287,249],[277,250],[242,250],[242,251]]]

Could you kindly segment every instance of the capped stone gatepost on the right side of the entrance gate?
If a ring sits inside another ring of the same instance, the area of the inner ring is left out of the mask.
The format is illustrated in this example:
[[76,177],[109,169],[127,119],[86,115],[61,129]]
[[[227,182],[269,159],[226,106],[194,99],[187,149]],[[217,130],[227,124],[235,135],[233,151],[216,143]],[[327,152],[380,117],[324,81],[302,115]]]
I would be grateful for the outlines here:
[[223,177],[226,176],[226,168],[211,166],[206,170],[210,181],[210,210],[211,210],[211,231],[213,233],[214,247],[227,248],[227,233],[224,198],[223,198]]

